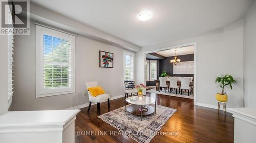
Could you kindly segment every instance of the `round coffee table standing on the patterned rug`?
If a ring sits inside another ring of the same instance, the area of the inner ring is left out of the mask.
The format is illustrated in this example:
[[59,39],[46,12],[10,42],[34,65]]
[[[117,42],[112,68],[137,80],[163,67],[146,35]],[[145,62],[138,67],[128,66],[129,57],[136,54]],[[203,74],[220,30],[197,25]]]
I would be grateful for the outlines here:
[[[131,103],[131,105],[126,106],[126,102]],[[155,108],[150,106],[149,104],[155,104]],[[143,110],[144,107],[147,107],[147,111]],[[156,113],[156,99],[146,96],[143,96],[142,100],[139,100],[137,96],[128,97],[125,99],[124,112],[126,110],[133,115],[140,116],[140,120],[142,120],[142,116],[151,115],[154,112]]]

